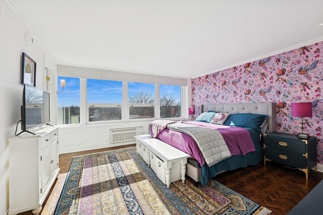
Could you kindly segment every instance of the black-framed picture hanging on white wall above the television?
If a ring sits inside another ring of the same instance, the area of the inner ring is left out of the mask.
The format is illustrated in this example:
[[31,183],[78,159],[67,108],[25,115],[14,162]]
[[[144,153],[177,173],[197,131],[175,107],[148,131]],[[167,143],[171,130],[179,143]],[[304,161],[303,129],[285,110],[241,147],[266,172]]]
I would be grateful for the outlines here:
[[36,62],[22,52],[21,84],[36,87]]

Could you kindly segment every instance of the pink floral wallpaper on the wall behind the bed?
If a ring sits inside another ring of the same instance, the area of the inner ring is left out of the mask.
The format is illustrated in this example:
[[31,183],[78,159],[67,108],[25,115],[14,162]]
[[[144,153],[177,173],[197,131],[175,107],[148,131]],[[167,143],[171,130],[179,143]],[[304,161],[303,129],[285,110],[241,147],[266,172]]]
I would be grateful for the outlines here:
[[317,161],[323,163],[323,42],[192,79],[192,106],[201,104],[275,102],[277,131],[297,133],[300,118],[292,102],[312,102],[306,129],[317,137]]

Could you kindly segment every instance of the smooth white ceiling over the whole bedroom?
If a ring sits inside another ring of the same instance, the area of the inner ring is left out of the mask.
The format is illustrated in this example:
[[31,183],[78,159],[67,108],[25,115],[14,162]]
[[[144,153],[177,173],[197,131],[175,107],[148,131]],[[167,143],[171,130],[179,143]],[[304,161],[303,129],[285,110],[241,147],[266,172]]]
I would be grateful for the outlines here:
[[13,1],[66,65],[195,78],[323,40],[321,0]]

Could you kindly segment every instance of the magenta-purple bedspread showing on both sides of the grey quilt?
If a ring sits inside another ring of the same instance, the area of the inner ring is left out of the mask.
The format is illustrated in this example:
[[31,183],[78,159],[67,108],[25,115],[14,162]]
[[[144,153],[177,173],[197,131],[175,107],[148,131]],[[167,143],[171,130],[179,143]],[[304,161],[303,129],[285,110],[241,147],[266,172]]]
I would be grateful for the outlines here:
[[[198,121],[188,121],[183,123],[218,130],[226,141],[232,156],[246,155],[249,152],[255,151],[249,131],[244,128]],[[156,137],[189,154],[193,159],[197,160],[201,166],[204,165],[205,162],[203,160],[202,153],[195,140],[190,135],[165,128],[164,130],[160,131]]]

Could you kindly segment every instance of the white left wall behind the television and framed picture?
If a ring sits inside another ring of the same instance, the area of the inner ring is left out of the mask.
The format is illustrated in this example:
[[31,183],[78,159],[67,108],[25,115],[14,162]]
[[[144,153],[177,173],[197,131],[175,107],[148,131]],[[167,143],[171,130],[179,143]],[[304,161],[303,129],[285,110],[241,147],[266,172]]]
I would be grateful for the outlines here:
[[[7,138],[15,133],[20,120],[23,85],[20,84],[21,53],[26,52],[37,62],[36,87],[44,90],[45,56],[49,55],[35,39],[28,47],[24,42],[25,23],[4,0],[0,0],[0,214],[9,207],[9,148]],[[54,59],[55,61],[55,59]],[[24,161],[21,161],[24,162]]]

